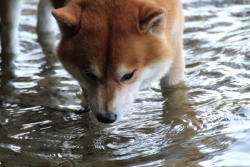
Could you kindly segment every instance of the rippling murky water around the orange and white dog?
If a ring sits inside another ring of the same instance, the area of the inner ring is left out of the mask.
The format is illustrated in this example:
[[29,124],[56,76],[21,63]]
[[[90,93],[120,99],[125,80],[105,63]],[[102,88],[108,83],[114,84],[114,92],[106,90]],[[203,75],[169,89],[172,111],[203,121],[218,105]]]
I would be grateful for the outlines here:
[[22,54],[1,70],[0,166],[250,166],[250,1],[184,0],[185,86],[140,92],[122,121],[79,113],[79,86],[35,33],[36,1],[20,26]]

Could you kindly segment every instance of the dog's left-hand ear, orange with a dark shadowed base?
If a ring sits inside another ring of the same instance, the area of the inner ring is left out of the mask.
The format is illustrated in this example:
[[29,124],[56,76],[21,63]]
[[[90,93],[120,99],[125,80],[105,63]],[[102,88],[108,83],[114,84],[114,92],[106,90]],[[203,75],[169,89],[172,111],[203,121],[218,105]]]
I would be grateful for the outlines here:
[[57,20],[63,35],[72,36],[80,29],[81,7],[70,3],[64,7],[52,10],[52,15]]

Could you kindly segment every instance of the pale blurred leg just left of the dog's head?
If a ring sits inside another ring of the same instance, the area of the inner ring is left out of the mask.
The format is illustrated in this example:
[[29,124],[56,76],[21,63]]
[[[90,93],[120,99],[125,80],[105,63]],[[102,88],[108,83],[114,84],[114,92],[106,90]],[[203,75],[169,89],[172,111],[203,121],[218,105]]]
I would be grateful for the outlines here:
[[38,41],[45,51],[55,52],[55,21],[51,11],[53,7],[50,0],[40,0],[37,10],[37,34]]

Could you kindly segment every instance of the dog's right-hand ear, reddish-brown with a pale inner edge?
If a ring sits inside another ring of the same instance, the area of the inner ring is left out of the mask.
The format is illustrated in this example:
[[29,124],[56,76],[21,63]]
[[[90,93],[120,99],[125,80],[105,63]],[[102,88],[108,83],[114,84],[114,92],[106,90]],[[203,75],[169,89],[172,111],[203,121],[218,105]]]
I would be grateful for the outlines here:
[[152,4],[144,4],[139,13],[139,31],[159,35],[166,28],[166,10]]

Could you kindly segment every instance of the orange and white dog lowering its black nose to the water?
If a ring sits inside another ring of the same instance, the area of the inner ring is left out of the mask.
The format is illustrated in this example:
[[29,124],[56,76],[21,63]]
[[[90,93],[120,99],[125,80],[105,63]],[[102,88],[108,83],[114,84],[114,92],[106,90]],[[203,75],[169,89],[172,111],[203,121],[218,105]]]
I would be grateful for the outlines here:
[[184,76],[181,0],[52,0],[57,56],[98,121],[113,123],[137,92]]

